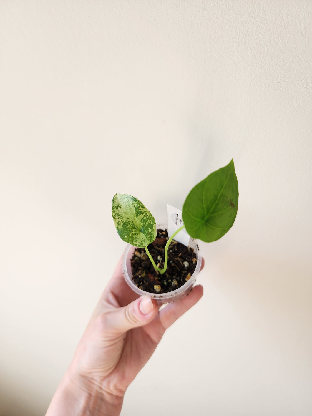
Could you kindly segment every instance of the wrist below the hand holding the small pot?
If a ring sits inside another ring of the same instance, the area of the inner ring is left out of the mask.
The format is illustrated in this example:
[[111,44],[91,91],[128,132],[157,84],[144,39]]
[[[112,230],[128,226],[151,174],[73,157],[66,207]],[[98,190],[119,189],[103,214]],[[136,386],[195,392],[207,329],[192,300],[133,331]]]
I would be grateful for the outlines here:
[[119,416],[123,396],[107,394],[67,372],[54,394],[46,416]]

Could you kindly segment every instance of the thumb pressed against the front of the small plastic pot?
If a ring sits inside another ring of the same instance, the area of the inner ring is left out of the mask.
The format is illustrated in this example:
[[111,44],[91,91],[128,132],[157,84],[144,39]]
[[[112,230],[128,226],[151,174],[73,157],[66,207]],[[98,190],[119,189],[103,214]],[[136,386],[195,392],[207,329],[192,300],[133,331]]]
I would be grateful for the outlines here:
[[148,296],[141,296],[129,305],[115,310],[111,329],[122,334],[129,329],[141,327],[151,322],[157,312],[157,301]]

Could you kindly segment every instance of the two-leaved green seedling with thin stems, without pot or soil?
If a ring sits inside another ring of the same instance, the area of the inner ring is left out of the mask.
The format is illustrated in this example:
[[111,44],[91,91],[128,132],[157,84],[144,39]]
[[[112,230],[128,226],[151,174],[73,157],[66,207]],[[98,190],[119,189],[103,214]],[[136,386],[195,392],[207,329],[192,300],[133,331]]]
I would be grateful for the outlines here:
[[144,247],[155,270],[163,274],[168,265],[168,247],[183,228],[192,238],[206,243],[218,240],[232,227],[237,206],[238,183],[232,159],[194,186],[186,197],[182,208],[184,225],[166,243],[163,268],[156,266],[147,248],[156,239],[156,221],[149,210],[133,196],[116,193],[111,214],[120,238],[135,247]]

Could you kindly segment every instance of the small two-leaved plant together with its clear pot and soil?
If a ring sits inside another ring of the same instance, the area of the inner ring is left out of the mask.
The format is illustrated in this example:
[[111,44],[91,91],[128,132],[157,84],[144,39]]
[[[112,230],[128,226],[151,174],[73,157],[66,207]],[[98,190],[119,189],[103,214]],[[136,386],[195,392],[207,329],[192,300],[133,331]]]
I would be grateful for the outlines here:
[[[116,230],[126,243],[123,273],[139,295],[160,302],[178,300],[192,288],[201,267],[196,238],[210,243],[232,227],[237,214],[238,183],[233,159],[210,173],[189,192],[182,208],[182,225],[169,237],[166,225],[156,226],[154,216],[138,199],[116,193],[111,213]],[[174,237],[182,230],[188,247]]]

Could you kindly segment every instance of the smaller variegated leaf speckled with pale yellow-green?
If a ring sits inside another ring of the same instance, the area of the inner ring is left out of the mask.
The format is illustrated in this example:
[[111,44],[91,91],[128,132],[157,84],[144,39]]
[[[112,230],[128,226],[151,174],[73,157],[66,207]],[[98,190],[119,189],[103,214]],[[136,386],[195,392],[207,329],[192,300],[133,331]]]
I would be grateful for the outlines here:
[[116,193],[111,206],[119,237],[136,247],[146,247],[156,238],[156,222],[149,210],[136,198]]

